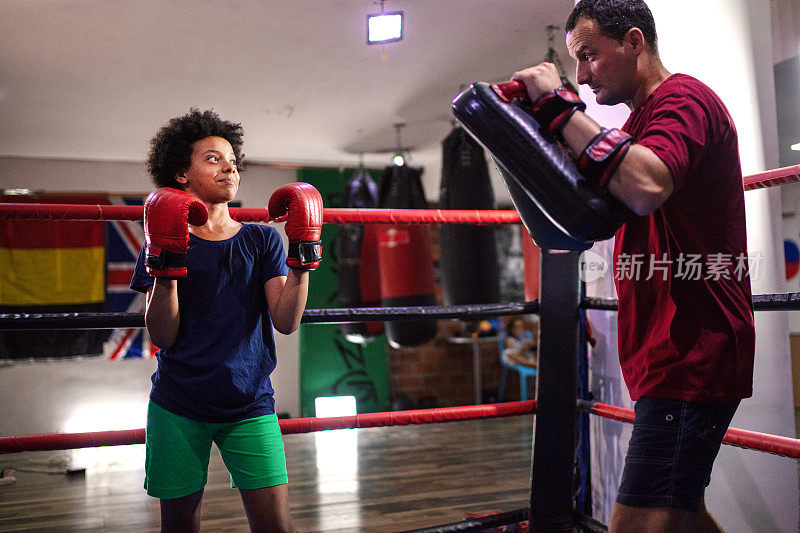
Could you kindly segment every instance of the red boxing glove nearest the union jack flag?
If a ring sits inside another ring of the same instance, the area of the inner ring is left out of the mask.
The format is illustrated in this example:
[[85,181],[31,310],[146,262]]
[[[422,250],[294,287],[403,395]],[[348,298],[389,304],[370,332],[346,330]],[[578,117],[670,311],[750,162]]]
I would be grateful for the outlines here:
[[189,224],[208,220],[206,205],[195,195],[161,187],[144,201],[145,266],[156,278],[186,277]]

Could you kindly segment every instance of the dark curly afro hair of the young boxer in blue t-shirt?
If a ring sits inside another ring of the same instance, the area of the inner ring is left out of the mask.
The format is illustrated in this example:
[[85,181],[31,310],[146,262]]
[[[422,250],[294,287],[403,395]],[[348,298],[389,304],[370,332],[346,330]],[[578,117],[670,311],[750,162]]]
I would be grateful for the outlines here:
[[243,136],[241,124],[223,120],[211,110],[199,111],[193,107],[187,114],[171,119],[150,139],[147,171],[156,187],[183,189],[175,176],[191,166],[194,143],[206,137],[222,137],[231,143],[240,166]]

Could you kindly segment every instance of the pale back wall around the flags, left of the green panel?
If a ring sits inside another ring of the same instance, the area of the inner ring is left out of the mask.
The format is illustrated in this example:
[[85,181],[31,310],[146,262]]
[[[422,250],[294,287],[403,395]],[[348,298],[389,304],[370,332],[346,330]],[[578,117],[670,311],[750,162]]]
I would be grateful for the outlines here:
[[[264,207],[269,195],[285,183],[295,181],[293,169],[247,165],[237,199],[243,207]],[[140,193],[146,196],[153,188],[144,165],[134,162],[74,161],[0,157],[0,188],[28,188],[46,192]],[[276,228],[283,233],[283,224]],[[300,415],[298,377],[298,334],[275,333],[278,367],[272,375],[276,389],[276,410]],[[92,405],[124,404],[132,427],[143,427],[136,418],[136,406],[143,413],[150,390],[150,375],[155,361],[108,361],[99,358],[54,361],[15,362],[0,366],[0,434],[18,435],[67,431],[75,413],[91,412]],[[108,416],[112,427],[120,419]],[[136,424],[139,424],[138,426]],[[69,431],[79,431],[74,425]],[[100,425],[102,427],[102,424]],[[98,428],[95,428],[98,429]],[[90,429],[86,429],[90,430]]]

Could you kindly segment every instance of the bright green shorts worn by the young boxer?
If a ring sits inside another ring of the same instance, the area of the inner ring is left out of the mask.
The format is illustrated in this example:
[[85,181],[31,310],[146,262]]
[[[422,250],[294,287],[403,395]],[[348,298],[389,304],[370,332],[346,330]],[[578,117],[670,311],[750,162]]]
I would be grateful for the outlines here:
[[205,487],[212,441],[230,472],[231,487],[260,489],[288,482],[277,415],[212,424],[173,414],[151,401],[145,439],[147,494],[180,498]]

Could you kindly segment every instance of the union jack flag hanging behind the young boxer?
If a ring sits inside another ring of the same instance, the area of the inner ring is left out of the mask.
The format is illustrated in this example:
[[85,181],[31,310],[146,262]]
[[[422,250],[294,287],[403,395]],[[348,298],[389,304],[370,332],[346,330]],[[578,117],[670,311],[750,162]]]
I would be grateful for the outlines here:
[[[144,199],[110,196],[109,202],[143,205]],[[144,294],[129,288],[143,242],[141,222],[115,220],[106,223],[106,303],[110,312],[144,313]],[[155,357],[157,350],[144,328],[115,329],[103,343],[103,355],[108,359]]]

